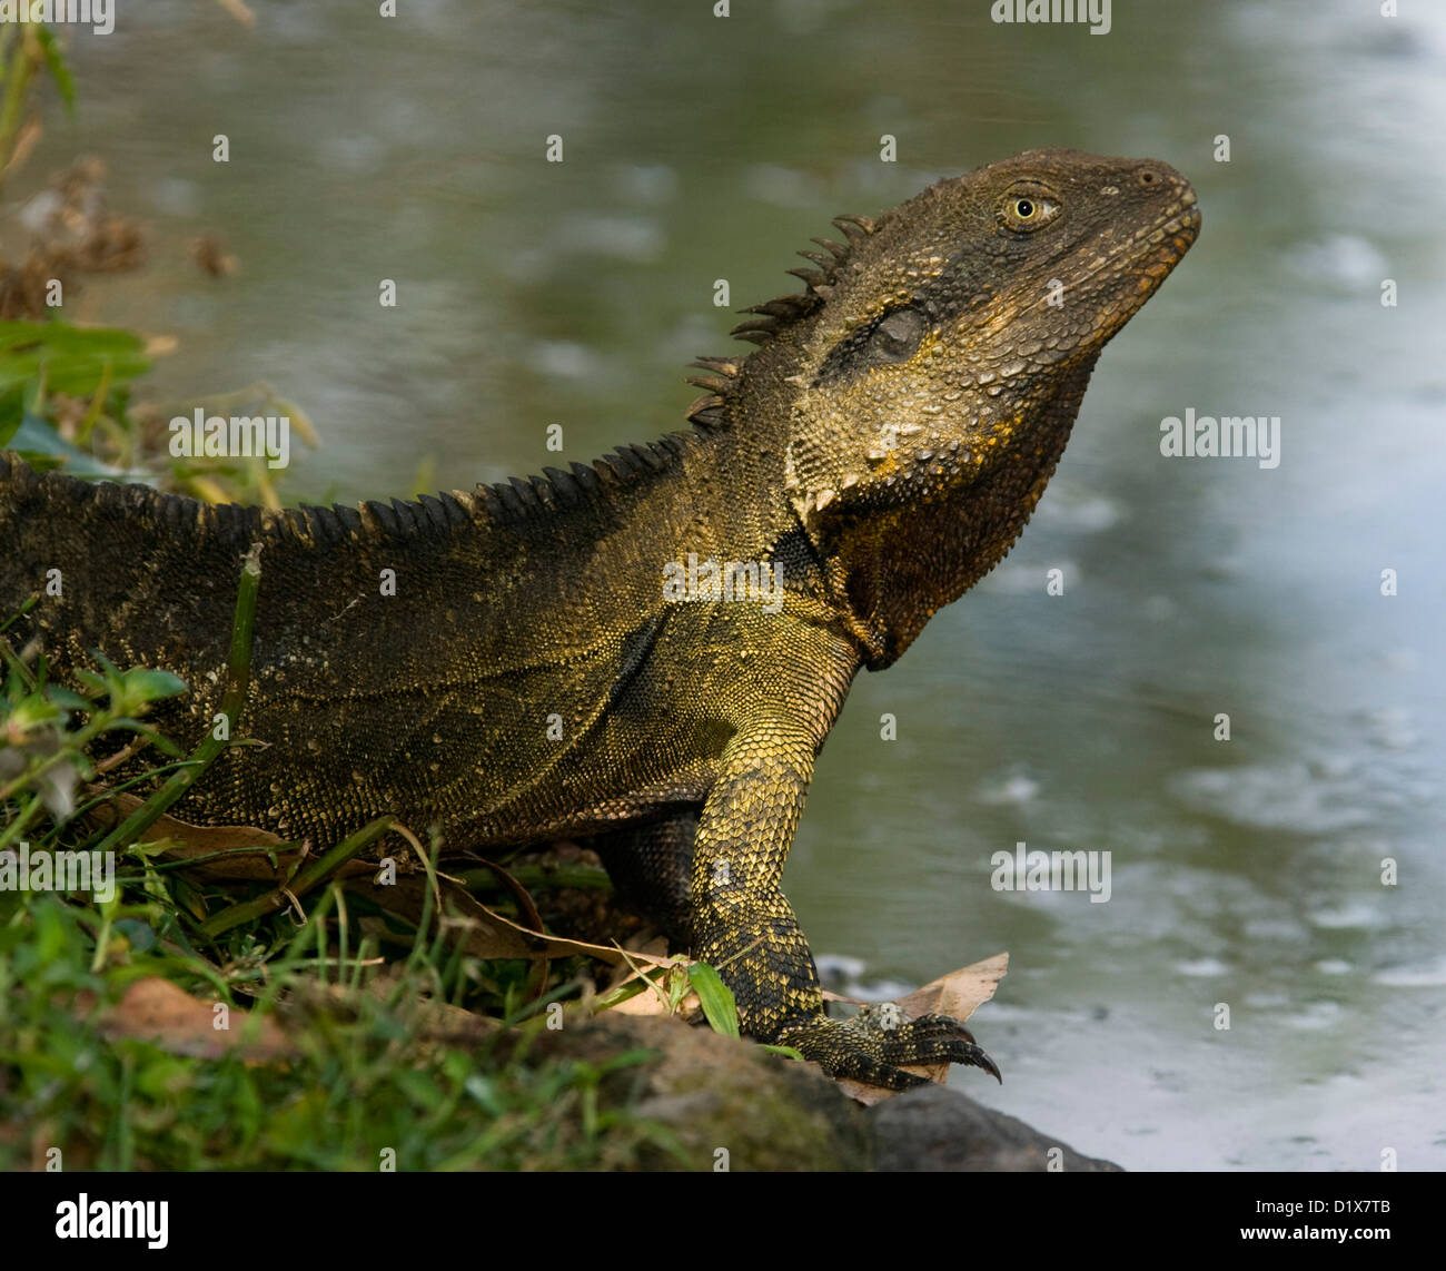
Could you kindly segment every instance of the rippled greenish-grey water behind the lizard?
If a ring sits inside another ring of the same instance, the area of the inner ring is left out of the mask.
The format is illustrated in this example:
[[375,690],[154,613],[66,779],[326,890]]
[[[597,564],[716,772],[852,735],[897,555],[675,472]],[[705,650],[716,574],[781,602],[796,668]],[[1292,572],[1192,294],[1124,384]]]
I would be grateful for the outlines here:
[[[538,470],[549,424],[584,460],[675,427],[683,363],[729,349],[714,279],[791,290],[836,211],[1031,145],[1190,175],[1200,242],[1106,350],[1015,553],[857,682],[787,887],[876,979],[1008,948],[975,1018],[1006,1084],[954,1080],[1082,1151],[1446,1165],[1446,16],[1118,4],[1100,38],[985,0],[252,3],[253,33],[147,0],[75,39],[81,110],[30,172],[110,162],[152,265],[81,316],[178,336],[156,398],[299,401],[325,447],[298,497],[406,492],[424,456],[428,485]],[[234,278],[187,262],[204,230]],[[1164,459],[1187,407],[1280,415],[1280,468]],[[1018,841],[1109,850],[1111,902],[991,890]]]

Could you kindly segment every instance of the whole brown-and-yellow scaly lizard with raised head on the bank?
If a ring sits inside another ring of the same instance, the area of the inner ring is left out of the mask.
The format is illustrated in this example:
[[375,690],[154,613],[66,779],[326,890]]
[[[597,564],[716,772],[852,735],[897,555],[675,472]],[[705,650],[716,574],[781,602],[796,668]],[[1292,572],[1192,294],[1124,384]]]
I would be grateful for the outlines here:
[[[781,874],[855,675],[1011,549],[1105,343],[1194,242],[1151,159],[1035,149],[816,239],[803,290],[700,358],[688,424],[570,470],[265,511],[0,456],[0,615],[52,673],[91,651],[221,696],[260,543],[252,688],[178,805],[340,841],[392,814],[486,853],[571,838],[719,967],[742,1032],[886,1089],[998,1065],[959,1022],[827,1015]],[[61,595],[45,579],[59,570]],[[388,586],[390,579],[390,586]],[[755,585],[756,583],[756,585]]]

